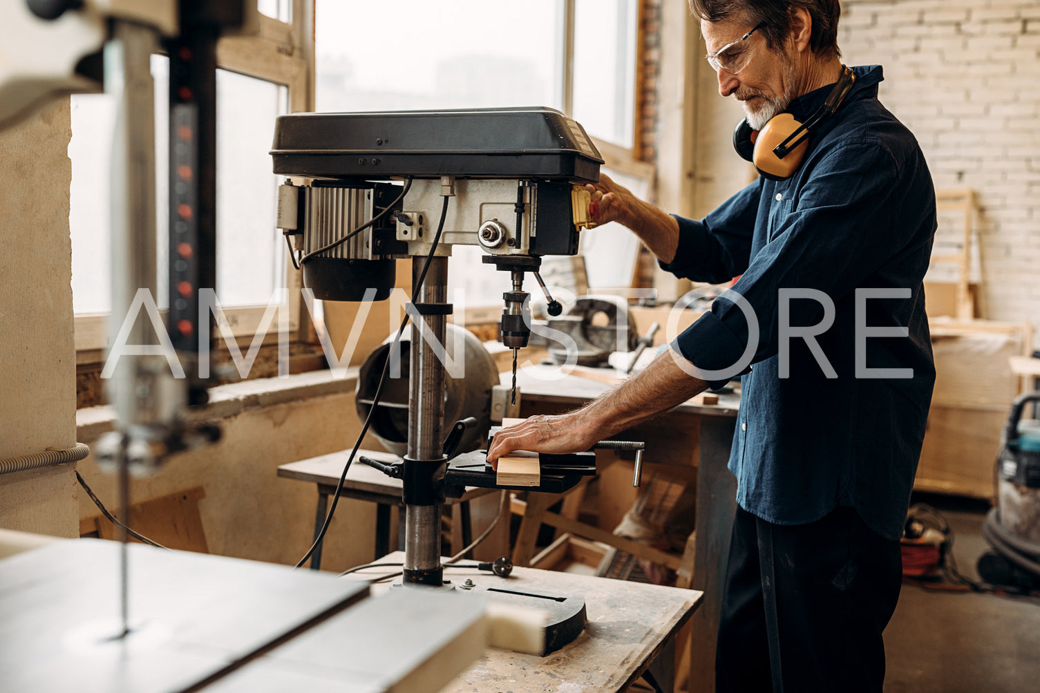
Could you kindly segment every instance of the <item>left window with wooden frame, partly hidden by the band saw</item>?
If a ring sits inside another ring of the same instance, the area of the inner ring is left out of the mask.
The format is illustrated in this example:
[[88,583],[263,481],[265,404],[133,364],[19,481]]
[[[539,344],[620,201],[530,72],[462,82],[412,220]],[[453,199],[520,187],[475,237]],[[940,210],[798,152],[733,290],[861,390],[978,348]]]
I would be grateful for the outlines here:
[[[275,118],[310,110],[309,68],[304,22],[310,0],[260,0],[258,31],[231,36],[217,47],[217,286],[229,326],[252,337],[276,288],[289,284],[298,297],[298,278],[287,273],[285,243],[275,228],[277,186],[268,150]],[[277,18],[277,19],[275,19]],[[155,297],[165,307],[167,209],[167,72],[164,56],[152,57],[155,80],[156,216],[158,280]],[[114,105],[106,95],[72,97],[73,179],[70,227],[73,245],[73,307],[77,350],[104,348],[104,313],[109,311],[109,152]],[[298,302],[290,303],[290,324],[298,325]]]

